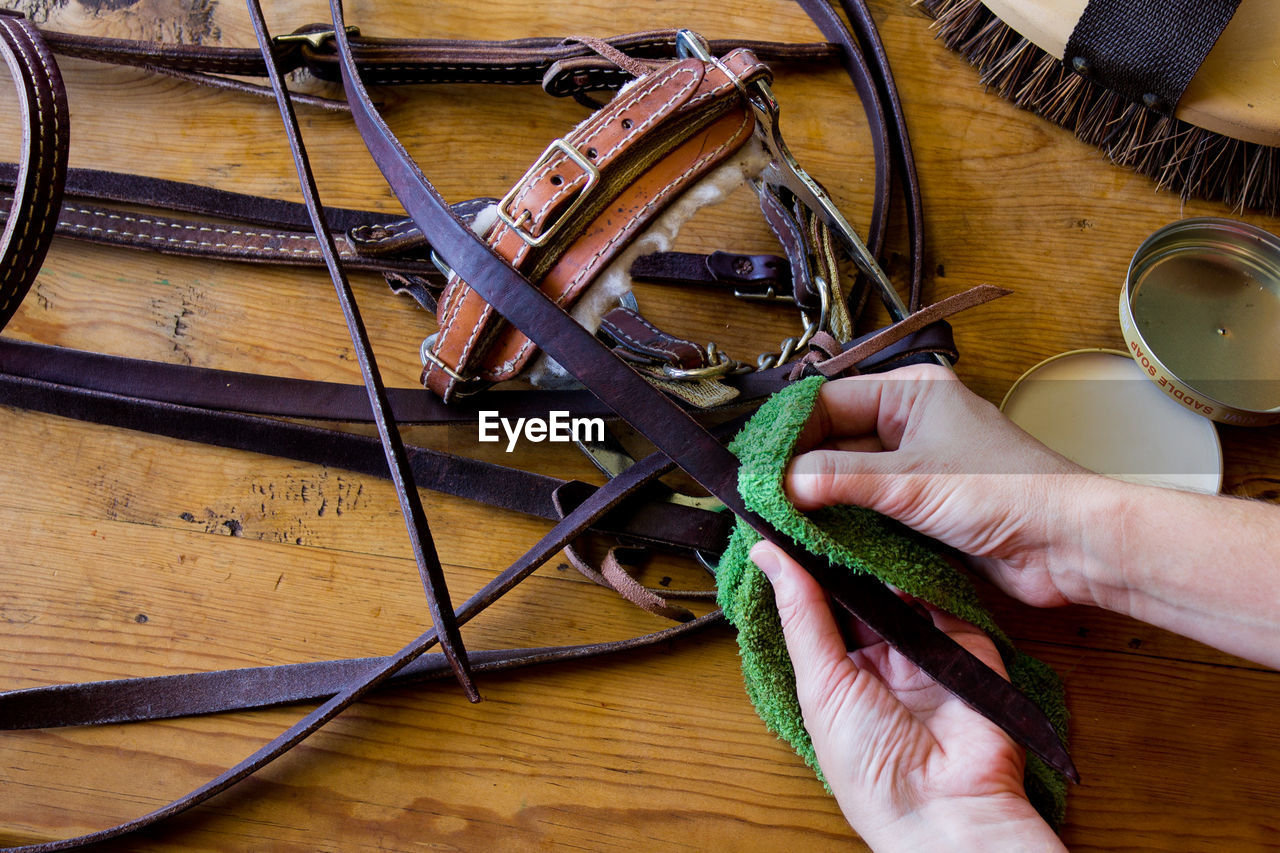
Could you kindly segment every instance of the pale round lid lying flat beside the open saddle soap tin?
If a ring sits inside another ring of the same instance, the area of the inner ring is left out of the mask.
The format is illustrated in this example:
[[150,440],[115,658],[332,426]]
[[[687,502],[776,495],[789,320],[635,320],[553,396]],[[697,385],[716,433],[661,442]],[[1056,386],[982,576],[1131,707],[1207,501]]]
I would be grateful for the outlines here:
[[1216,493],[1222,485],[1213,424],[1165,396],[1119,350],[1046,359],[1014,383],[1000,409],[1092,471],[1189,492]]

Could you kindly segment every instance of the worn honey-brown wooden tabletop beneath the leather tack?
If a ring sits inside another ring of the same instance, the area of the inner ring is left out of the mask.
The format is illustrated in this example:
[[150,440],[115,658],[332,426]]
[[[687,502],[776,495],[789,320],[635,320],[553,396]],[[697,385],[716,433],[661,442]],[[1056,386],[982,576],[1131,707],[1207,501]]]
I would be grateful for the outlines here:
[[[214,0],[31,0],[50,27],[251,45]],[[1016,293],[955,320],[959,373],[998,401],[1041,359],[1121,347],[1116,300],[1133,250],[1183,204],[1096,150],[984,93],[923,13],[874,4],[906,105],[928,222],[928,297],[991,282]],[[325,20],[270,4],[276,32]],[[710,37],[818,40],[781,0],[663,4],[348,4],[374,36],[609,35],[689,26]],[[73,165],[283,199],[297,184],[269,101],[63,60]],[[785,72],[783,129],[859,228],[865,124],[840,72]],[[8,90],[6,90],[8,92]],[[383,90],[388,119],[449,200],[502,195],[582,109],[532,88]],[[13,96],[4,142],[15,150]],[[398,210],[340,114],[303,111],[328,204]],[[12,155],[9,155],[12,159]],[[704,211],[690,248],[772,251],[749,199]],[[740,202],[740,204],[739,204]],[[1280,222],[1243,215],[1276,231]],[[901,223],[899,223],[901,225]],[[901,231],[901,228],[899,228]],[[901,234],[897,237],[901,243]],[[901,280],[900,254],[887,266]],[[378,359],[412,387],[433,321],[356,275]],[[791,334],[785,309],[641,291],[650,315],[748,356]],[[328,280],[58,241],[5,332],[137,357],[358,382]],[[471,429],[410,439],[481,453]],[[1280,430],[1220,429],[1225,491],[1280,496]],[[0,409],[0,688],[387,653],[420,633],[421,588],[385,483]],[[595,479],[563,447],[488,459]],[[547,525],[426,494],[456,599]],[[1213,566],[1204,566],[1213,571]],[[645,579],[700,584],[655,562]],[[987,590],[1021,646],[1066,681],[1079,850],[1280,848],[1280,675],[1098,611],[1037,611]],[[472,648],[590,642],[662,628],[562,561],[465,629]],[[835,802],[744,694],[728,629],[653,651],[484,676],[472,706],[447,683],[383,692],[209,804],[113,850],[858,849]],[[63,838],[198,785],[305,708],[0,736],[0,840]]]

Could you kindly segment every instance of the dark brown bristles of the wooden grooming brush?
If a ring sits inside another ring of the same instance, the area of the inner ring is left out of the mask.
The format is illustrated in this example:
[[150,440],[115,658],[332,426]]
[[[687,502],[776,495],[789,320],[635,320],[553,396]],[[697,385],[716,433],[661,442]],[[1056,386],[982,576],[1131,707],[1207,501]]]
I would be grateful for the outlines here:
[[942,42],[978,69],[982,85],[1101,149],[1162,190],[1280,214],[1280,149],[1242,142],[1169,118],[1068,69],[980,0],[916,0]]

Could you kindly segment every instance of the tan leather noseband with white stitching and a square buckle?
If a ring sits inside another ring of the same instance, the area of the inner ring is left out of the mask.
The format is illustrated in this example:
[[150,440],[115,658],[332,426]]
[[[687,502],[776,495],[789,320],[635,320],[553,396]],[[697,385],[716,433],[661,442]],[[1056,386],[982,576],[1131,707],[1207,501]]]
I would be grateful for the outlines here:
[[[742,79],[765,73],[744,50]],[[754,122],[723,70],[686,59],[637,79],[557,140],[499,204],[494,251],[568,307],[595,274],[681,191],[736,151]],[[467,282],[451,277],[424,384],[445,402],[518,374],[536,350]]]

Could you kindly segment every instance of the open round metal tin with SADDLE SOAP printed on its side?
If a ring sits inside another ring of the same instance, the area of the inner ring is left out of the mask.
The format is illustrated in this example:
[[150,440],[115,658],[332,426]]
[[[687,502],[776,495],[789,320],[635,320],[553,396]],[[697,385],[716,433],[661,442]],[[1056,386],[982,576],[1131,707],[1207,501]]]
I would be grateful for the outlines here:
[[1120,295],[1129,353],[1212,420],[1280,423],[1280,238],[1231,219],[1165,225],[1134,252]]

